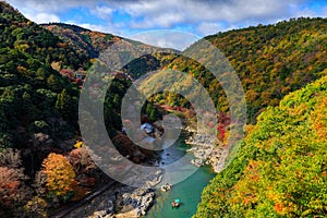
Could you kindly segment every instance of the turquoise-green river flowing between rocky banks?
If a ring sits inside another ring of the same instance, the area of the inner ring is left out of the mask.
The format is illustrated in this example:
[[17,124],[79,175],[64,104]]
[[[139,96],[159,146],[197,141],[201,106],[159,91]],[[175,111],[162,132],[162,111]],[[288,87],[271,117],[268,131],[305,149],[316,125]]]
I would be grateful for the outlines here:
[[[183,140],[179,140],[173,146],[161,154],[161,162],[173,162],[185,154],[189,148]],[[168,155],[167,155],[168,154]],[[157,191],[154,206],[149,209],[147,218],[189,218],[195,214],[201,199],[203,189],[215,177],[209,167],[201,167],[186,180],[174,184],[168,192]],[[171,202],[180,198],[182,204],[179,208],[172,208]]]

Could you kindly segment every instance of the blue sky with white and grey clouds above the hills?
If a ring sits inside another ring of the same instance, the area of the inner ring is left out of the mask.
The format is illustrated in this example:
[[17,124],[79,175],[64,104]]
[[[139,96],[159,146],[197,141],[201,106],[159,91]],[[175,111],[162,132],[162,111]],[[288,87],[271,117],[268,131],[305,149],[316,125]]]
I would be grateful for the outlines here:
[[199,37],[299,16],[327,16],[327,0],[8,0],[36,23],[63,22],[131,37],[173,29]]

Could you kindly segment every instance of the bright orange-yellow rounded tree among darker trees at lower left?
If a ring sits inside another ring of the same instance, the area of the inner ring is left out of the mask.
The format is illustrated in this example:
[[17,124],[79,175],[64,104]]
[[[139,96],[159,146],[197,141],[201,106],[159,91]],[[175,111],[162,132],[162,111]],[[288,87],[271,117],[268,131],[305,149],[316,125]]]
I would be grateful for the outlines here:
[[73,191],[75,172],[70,162],[59,154],[51,153],[43,162],[47,177],[46,187],[50,194],[64,196]]

